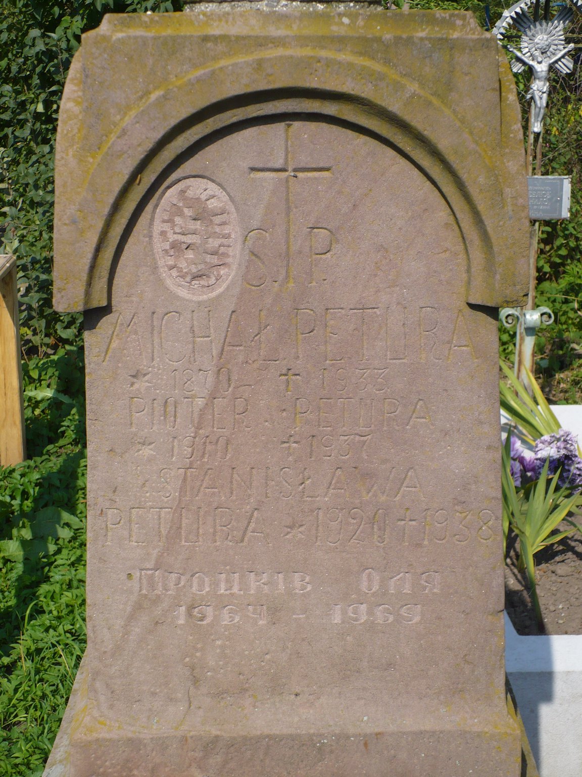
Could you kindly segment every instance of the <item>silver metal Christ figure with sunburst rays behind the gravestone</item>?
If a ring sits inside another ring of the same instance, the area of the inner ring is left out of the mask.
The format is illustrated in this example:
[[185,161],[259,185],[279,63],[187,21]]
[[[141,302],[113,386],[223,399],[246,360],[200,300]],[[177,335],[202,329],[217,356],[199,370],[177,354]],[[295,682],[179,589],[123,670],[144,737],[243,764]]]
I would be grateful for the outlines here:
[[[528,14],[530,5],[534,5],[533,18]],[[521,33],[521,51],[511,46],[508,50],[515,55],[511,62],[511,70],[521,73],[528,65],[532,70],[532,85],[529,88],[528,99],[533,101],[532,132],[542,131],[542,122],[548,103],[549,68],[556,68],[560,73],[571,73],[573,61],[567,54],[572,51],[573,44],[566,46],[564,30],[572,20],[574,9],[582,12],[582,0],[570,0],[571,5],[563,5],[553,19],[550,19],[551,2],[546,0],[544,11],[540,18],[540,0],[521,0],[510,9],[503,12],[501,19],[494,26],[493,33],[500,43],[503,42],[511,25]]]

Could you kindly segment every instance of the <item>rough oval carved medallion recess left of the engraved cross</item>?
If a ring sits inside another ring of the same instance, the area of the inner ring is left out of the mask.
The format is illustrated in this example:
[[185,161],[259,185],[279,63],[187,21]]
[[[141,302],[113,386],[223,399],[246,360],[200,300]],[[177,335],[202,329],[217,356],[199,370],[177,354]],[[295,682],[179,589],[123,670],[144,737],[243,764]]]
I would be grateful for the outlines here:
[[170,186],[154,215],[161,276],[182,297],[205,298],[226,286],[240,248],[237,214],[226,192],[202,176]]

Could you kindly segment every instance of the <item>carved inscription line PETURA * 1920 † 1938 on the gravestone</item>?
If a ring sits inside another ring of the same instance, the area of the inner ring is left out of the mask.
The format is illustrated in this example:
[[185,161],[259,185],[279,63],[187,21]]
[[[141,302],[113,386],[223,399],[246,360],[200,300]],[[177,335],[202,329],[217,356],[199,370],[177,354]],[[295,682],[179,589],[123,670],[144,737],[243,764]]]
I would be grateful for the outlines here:
[[466,543],[489,544],[501,535],[501,521],[482,510],[414,507],[356,507],[338,500],[319,507],[296,507],[293,517],[262,507],[236,509],[224,503],[189,507],[105,507],[104,545],[268,548],[283,544],[318,552],[380,548],[434,548]]

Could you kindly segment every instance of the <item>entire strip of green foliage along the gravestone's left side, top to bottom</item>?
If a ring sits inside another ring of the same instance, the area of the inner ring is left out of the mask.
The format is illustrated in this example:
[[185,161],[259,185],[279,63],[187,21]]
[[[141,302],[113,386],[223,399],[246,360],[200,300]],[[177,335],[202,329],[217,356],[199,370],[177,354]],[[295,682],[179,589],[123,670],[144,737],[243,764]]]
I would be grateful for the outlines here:
[[41,775],[85,650],[81,316],[52,295],[54,146],[81,33],[162,0],[0,0],[0,253],[18,257],[29,458],[0,468],[0,777]]

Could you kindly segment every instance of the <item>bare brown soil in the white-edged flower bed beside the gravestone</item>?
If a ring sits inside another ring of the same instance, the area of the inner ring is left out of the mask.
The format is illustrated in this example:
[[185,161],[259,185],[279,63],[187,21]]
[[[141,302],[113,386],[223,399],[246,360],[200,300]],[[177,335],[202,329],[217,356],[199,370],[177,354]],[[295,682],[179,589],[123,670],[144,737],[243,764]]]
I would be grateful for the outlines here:
[[[508,548],[505,609],[518,634],[540,634],[518,554]],[[536,580],[546,634],[582,634],[582,537],[574,534],[535,554]]]

